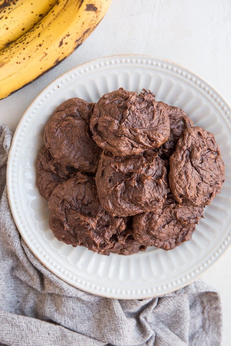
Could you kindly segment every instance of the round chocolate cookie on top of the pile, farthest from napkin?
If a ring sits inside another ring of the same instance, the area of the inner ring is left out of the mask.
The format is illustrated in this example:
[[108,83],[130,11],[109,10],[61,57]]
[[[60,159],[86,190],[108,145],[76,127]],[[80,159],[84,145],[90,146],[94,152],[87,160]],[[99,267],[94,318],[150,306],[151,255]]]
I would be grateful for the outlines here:
[[159,147],[170,134],[169,117],[153,95],[123,88],[103,95],[90,121],[93,139],[115,156]]

